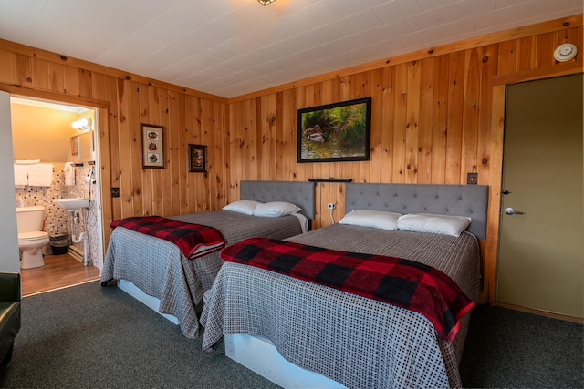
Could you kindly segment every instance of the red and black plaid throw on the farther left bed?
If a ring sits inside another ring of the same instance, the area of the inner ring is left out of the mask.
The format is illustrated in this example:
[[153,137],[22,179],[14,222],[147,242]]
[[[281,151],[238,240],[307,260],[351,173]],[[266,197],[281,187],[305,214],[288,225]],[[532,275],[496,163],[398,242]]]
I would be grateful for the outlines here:
[[161,216],[135,216],[111,223],[111,228],[124,227],[176,244],[184,256],[194,260],[225,247],[223,235],[213,227],[183,223]]

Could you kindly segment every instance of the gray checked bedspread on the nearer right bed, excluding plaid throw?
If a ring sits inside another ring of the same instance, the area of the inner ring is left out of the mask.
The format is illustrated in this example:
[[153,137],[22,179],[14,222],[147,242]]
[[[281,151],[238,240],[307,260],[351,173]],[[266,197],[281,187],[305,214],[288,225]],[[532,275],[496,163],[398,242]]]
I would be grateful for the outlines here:
[[[478,241],[408,231],[333,225],[289,239],[433,266],[478,298]],[[460,386],[458,364],[469,316],[454,343],[421,314],[272,271],[226,262],[208,292],[203,350],[223,334],[271,340],[288,361],[351,388]]]

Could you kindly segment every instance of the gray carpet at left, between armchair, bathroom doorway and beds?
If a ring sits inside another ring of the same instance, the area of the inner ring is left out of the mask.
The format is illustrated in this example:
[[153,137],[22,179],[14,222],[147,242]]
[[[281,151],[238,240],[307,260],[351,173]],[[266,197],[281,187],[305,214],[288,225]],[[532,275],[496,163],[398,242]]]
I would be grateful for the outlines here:
[[16,388],[273,388],[178,326],[99,282],[27,297],[0,386]]

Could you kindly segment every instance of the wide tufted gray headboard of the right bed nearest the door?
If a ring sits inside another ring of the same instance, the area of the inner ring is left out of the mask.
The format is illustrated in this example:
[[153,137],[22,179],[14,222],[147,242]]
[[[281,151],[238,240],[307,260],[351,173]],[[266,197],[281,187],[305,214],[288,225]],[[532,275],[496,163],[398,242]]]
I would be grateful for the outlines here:
[[486,237],[489,190],[486,185],[347,184],[345,211],[387,210],[469,216],[468,230]]

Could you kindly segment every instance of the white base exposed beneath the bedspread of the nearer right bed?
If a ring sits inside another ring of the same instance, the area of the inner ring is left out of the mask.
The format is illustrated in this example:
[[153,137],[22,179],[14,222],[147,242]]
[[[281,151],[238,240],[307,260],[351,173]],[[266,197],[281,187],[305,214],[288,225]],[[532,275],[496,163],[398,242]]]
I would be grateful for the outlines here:
[[284,388],[343,388],[346,386],[324,375],[287,361],[268,339],[245,335],[225,335],[225,355]]

